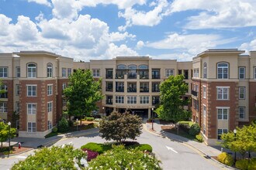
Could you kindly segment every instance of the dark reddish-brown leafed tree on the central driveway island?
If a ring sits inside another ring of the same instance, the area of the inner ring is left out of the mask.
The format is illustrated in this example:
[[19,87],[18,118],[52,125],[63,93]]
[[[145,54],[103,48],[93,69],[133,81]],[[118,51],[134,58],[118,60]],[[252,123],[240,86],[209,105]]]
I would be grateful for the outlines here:
[[114,140],[118,143],[127,138],[135,139],[142,133],[142,119],[127,112],[120,114],[112,112],[109,117],[99,122],[99,135],[107,141]]

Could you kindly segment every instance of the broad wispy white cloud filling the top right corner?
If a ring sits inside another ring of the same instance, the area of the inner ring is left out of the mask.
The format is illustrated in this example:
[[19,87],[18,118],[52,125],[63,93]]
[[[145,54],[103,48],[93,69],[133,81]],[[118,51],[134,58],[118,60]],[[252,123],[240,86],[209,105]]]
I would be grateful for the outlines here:
[[190,16],[186,29],[213,29],[256,26],[256,2],[253,0],[208,1],[175,0],[167,15],[187,10],[202,10],[199,15]]

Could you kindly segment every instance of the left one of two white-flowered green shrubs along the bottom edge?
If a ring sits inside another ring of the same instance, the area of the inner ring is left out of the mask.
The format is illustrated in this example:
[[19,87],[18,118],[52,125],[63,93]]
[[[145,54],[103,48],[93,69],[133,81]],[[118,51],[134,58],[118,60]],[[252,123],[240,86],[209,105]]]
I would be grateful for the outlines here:
[[78,169],[81,164],[86,165],[86,153],[74,150],[72,145],[62,147],[53,146],[36,151],[35,155],[29,155],[24,161],[19,161],[12,166],[12,170],[19,169]]

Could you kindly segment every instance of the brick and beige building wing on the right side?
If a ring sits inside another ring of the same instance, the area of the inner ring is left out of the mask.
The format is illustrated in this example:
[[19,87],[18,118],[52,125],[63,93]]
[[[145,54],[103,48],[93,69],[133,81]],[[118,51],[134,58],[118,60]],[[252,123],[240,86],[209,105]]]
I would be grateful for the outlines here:
[[192,60],[192,120],[206,144],[256,118],[256,52],[209,49]]

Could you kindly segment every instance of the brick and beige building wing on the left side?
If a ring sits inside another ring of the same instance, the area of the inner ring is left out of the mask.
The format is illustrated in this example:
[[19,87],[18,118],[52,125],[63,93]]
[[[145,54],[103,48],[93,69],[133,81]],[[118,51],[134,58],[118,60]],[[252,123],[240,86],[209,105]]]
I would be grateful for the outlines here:
[[19,120],[20,137],[43,138],[59,120],[73,59],[44,51],[0,54],[0,78],[6,93],[0,99],[0,117]]

